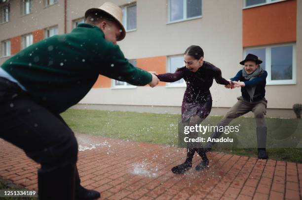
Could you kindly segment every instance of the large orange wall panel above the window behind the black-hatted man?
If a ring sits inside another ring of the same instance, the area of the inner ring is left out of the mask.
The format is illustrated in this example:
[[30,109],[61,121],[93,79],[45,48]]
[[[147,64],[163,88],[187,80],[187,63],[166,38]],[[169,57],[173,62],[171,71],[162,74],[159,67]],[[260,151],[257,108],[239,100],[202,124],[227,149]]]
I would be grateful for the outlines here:
[[242,11],[243,47],[296,41],[297,0]]

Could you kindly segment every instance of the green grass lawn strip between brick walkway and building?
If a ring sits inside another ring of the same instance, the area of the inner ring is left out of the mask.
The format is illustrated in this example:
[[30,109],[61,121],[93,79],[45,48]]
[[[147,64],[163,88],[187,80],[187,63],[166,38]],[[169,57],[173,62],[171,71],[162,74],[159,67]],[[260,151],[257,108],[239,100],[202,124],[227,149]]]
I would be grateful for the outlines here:
[[[70,109],[62,114],[76,132],[123,140],[178,145],[180,114],[151,114],[117,111]],[[216,125],[222,116],[210,116],[201,125]],[[269,158],[302,163],[301,119],[266,118]],[[240,124],[231,145],[215,145],[214,150],[238,155],[257,156],[256,122],[252,117],[239,117],[229,125]],[[210,136],[210,133],[208,135]]]

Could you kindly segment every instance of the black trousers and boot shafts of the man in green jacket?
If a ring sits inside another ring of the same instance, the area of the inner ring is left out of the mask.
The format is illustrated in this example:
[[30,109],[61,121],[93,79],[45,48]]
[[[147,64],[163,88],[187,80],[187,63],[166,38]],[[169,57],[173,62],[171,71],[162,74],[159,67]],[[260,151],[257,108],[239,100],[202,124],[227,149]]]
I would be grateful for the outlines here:
[[75,199],[80,179],[73,131],[59,114],[40,106],[17,84],[1,77],[0,138],[22,148],[41,165],[40,200]]

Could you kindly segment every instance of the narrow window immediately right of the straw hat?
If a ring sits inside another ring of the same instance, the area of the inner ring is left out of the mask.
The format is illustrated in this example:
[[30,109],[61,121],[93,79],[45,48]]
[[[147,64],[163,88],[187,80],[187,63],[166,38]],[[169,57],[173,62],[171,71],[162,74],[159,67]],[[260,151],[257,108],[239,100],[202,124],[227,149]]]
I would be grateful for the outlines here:
[[136,30],[136,4],[122,7],[123,25],[126,31]]

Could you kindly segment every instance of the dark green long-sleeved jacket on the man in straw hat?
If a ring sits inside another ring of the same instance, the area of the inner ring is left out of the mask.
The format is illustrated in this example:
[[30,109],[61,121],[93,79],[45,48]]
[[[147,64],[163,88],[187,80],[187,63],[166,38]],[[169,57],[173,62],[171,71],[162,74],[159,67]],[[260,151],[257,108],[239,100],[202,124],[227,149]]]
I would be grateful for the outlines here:
[[62,113],[80,101],[99,74],[135,86],[152,80],[149,72],[129,63],[118,45],[105,40],[101,29],[89,24],[34,43],[1,67],[35,101],[55,113]]

